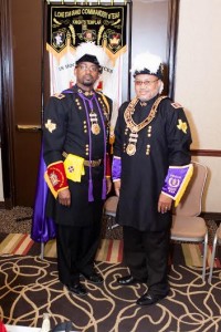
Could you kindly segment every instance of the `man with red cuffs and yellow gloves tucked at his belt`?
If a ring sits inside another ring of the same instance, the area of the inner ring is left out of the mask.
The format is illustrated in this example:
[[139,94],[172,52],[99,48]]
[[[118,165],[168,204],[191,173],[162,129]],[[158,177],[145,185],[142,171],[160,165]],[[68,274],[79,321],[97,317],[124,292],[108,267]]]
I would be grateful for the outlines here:
[[103,282],[94,259],[103,203],[112,186],[107,151],[112,101],[94,90],[102,52],[93,43],[77,48],[76,84],[51,96],[44,112],[43,156],[51,189],[46,215],[56,225],[59,279],[76,295],[87,293],[82,277]]

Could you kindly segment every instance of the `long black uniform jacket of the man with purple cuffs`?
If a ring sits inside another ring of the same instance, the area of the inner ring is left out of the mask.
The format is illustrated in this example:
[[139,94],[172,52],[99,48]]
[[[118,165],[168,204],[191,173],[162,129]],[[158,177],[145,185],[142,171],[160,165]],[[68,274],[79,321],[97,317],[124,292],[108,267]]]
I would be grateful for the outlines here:
[[[143,122],[158,96],[141,106],[138,102],[133,121]],[[119,108],[115,128],[114,155],[122,158],[122,187],[117,222],[141,231],[160,231],[171,226],[171,212],[157,211],[169,166],[190,163],[191,134],[182,107],[170,98],[164,98],[154,120],[138,132],[136,153],[128,155],[126,148],[130,131],[125,122],[128,102]]]

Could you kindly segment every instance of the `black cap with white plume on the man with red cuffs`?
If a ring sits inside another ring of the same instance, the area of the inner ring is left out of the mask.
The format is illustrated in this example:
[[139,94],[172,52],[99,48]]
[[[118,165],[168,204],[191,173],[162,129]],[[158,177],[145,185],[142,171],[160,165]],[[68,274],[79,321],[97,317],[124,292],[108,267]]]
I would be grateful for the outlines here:
[[76,48],[75,63],[92,62],[102,68],[105,63],[105,52],[102,46],[95,45],[94,42],[81,43]]

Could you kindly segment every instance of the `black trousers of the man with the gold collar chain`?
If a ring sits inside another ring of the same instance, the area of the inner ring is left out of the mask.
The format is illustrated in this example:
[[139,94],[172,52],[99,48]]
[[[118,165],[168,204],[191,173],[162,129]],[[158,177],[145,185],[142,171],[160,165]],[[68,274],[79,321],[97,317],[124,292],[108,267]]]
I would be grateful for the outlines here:
[[168,257],[170,230],[139,231],[124,226],[124,261],[137,279],[147,279],[148,291],[165,295],[169,291]]

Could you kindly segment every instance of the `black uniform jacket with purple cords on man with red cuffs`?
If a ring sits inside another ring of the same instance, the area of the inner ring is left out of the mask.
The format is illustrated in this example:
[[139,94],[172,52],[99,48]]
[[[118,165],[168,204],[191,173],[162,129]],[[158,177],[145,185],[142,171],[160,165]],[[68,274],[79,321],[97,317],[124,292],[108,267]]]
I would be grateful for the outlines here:
[[[74,154],[84,159],[104,159],[107,144],[112,101],[102,94],[83,95],[82,90],[74,87],[51,96],[44,111],[43,155],[45,164],[64,160],[63,152]],[[91,100],[91,102],[90,102]],[[101,128],[98,134],[91,132],[90,114],[96,114]],[[101,117],[102,116],[102,117]],[[103,122],[102,122],[103,118]],[[103,125],[104,124],[104,125]],[[86,226],[92,220],[92,210],[88,203],[90,172],[93,180],[94,201],[102,200],[102,183],[104,164],[97,167],[86,167],[81,183],[69,180],[71,190],[71,207],[61,206],[49,194],[46,212],[56,224]]]

